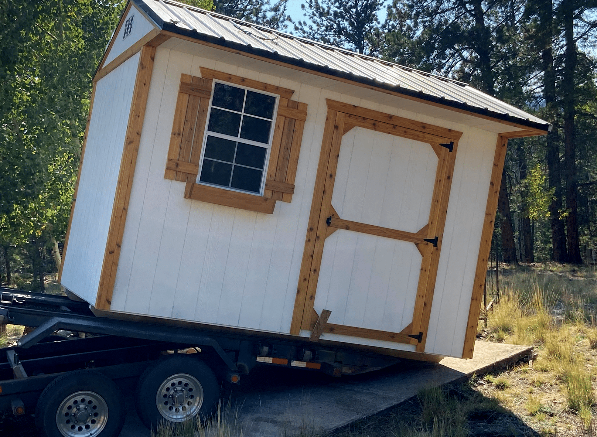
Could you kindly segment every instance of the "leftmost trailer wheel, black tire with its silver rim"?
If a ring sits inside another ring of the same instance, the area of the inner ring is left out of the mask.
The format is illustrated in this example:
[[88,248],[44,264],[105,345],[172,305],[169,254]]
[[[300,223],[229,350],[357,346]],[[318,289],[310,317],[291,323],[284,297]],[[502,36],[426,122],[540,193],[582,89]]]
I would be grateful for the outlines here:
[[[75,396],[75,393],[79,394]],[[76,412],[79,412],[78,417]],[[35,408],[35,426],[45,437],[64,437],[69,433],[70,436],[117,437],[124,417],[120,389],[110,378],[93,370],[75,370],[57,377],[45,387]]]

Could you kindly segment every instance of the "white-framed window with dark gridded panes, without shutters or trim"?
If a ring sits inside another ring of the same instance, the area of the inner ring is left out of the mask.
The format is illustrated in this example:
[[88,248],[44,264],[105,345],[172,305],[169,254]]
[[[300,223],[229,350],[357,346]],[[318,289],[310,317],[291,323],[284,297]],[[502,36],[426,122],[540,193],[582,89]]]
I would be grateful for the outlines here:
[[277,98],[214,81],[199,182],[260,194]]

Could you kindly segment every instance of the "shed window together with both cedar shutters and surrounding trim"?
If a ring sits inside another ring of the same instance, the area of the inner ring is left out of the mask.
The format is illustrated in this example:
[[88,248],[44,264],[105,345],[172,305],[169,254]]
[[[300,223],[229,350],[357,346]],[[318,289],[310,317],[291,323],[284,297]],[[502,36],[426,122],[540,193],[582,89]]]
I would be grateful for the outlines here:
[[184,198],[272,214],[291,202],[307,105],[294,91],[201,67],[181,75],[165,179]]

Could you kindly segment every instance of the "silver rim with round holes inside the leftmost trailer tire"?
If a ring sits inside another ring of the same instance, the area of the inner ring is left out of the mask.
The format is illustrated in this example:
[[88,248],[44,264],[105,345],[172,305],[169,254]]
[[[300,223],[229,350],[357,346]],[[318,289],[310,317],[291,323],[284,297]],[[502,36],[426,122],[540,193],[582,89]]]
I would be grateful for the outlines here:
[[96,392],[82,390],[64,398],[56,411],[56,425],[64,437],[94,437],[108,421],[108,405]]

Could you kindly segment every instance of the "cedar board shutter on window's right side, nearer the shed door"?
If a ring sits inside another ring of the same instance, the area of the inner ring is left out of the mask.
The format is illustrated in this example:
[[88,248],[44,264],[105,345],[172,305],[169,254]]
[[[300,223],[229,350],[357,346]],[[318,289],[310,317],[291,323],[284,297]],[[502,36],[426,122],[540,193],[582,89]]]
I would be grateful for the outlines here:
[[280,98],[264,197],[284,202],[292,201],[298,153],[306,118],[306,103]]

